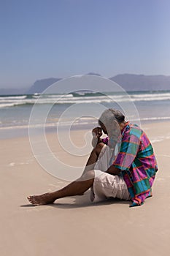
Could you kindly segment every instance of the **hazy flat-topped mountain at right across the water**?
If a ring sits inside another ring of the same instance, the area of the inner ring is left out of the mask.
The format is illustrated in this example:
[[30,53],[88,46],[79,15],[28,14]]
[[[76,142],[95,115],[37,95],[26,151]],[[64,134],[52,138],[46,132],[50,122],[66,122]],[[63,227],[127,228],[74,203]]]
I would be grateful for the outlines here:
[[115,75],[115,81],[125,91],[166,91],[170,90],[170,76],[166,75]]

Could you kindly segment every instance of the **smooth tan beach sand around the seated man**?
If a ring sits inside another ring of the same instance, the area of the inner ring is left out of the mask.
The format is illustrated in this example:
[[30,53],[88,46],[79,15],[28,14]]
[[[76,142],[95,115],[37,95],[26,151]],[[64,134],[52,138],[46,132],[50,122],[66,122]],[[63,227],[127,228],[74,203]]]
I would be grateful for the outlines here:
[[[170,123],[145,124],[158,159],[153,197],[143,206],[111,200],[90,203],[84,196],[66,197],[53,205],[34,207],[27,195],[50,192],[68,184],[36,162],[28,138],[1,140],[0,255],[169,255],[170,252]],[[87,131],[74,131],[77,145]],[[54,134],[51,150],[66,162],[85,165],[87,156],[61,151]]]

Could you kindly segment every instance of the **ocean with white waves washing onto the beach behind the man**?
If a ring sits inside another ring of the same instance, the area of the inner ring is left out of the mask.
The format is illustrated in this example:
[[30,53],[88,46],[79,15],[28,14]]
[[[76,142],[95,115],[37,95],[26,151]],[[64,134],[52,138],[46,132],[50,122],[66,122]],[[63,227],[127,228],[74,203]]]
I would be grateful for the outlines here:
[[42,126],[42,120],[49,132],[58,125],[63,129],[67,126],[92,129],[104,108],[120,109],[125,116],[127,112],[128,119],[137,124],[170,121],[170,91],[133,91],[127,95],[93,91],[3,95],[0,96],[0,138],[26,135],[28,126]]

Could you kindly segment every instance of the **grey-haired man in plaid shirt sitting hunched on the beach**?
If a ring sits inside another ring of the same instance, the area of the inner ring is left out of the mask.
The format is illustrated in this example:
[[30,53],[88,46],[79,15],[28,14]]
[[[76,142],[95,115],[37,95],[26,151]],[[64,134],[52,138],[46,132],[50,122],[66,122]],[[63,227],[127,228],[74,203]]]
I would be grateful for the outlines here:
[[[105,110],[93,129],[93,151],[82,176],[63,189],[43,195],[28,196],[34,206],[53,203],[61,197],[83,195],[91,188],[91,200],[109,197],[132,200],[141,206],[152,196],[152,184],[158,170],[152,145],[147,135],[125,121],[120,111]],[[101,139],[101,129],[108,135]]]

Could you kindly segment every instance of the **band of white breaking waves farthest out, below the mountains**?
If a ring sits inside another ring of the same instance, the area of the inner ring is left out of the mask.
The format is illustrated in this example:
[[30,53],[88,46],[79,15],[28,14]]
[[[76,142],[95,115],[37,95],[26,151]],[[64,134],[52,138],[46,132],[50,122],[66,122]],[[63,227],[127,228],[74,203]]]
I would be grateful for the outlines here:
[[76,104],[102,102],[152,102],[169,101],[170,92],[140,92],[140,93],[72,93],[72,94],[32,94],[0,97],[0,108],[11,108],[18,105],[36,104]]

